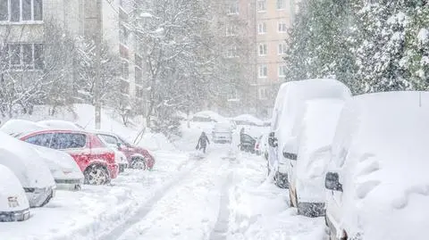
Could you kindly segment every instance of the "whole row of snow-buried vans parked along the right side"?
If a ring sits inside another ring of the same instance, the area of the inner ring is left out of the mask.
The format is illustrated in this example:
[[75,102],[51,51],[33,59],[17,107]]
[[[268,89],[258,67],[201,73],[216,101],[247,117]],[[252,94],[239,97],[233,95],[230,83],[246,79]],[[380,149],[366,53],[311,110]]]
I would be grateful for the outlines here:
[[427,122],[428,92],[351,96],[332,79],[288,82],[268,171],[299,214],[324,216],[330,239],[425,239]]

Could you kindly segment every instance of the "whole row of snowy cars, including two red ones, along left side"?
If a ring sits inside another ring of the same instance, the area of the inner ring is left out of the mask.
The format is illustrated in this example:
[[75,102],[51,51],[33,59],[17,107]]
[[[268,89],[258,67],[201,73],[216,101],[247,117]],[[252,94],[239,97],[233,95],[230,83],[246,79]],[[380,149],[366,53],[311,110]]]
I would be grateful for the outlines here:
[[29,207],[49,203],[57,187],[105,185],[128,167],[151,170],[155,164],[146,149],[114,133],[66,121],[9,120],[0,128],[0,143],[0,176],[8,179],[0,181],[0,221],[28,219]]

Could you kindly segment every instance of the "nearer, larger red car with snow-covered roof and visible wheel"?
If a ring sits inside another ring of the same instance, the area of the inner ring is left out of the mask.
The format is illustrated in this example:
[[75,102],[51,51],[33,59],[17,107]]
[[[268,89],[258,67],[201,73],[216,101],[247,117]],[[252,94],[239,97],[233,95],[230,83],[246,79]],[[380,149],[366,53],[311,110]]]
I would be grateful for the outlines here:
[[19,137],[33,145],[42,145],[69,153],[85,176],[85,183],[104,185],[119,173],[114,150],[95,134],[74,130],[40,130]]

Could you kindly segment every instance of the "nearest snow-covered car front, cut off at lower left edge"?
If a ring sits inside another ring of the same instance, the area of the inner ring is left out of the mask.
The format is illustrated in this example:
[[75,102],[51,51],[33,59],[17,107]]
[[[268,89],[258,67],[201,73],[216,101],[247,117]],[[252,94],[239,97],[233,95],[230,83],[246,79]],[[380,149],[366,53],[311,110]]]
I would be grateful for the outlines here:
[[29,200],[20,179],[0,164],[0,222],[29,219]]

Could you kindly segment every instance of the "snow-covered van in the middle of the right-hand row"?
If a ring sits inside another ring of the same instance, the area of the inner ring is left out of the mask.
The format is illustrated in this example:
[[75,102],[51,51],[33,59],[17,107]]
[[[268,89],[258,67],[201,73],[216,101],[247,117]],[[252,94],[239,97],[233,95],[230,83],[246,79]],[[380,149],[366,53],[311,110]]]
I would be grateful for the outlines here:
[[300,215],[324,215],[325,169],[343,105],[344,101],[329,98],[308,100],[305,104],[298,155],[289,158],[288,171],[290,206],[298,208]]

